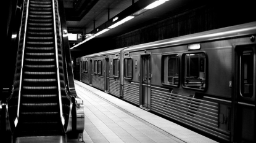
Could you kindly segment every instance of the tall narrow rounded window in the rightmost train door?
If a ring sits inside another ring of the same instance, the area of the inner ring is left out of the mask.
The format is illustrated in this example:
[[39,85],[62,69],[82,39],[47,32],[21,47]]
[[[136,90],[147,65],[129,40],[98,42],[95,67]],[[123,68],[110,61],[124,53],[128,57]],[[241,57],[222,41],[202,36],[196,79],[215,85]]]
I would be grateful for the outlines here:
[[244,97],[252,98],[254,95],[254,52],[253,50],[244,50],[241,53],[241,94]]

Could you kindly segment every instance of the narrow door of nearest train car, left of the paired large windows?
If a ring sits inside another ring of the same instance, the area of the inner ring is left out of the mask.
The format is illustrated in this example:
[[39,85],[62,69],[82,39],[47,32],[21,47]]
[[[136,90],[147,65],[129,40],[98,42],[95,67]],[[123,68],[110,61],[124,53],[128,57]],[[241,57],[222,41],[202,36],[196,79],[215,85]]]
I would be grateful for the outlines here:
[[141,101],[140,106],[151,109],[151,55],[142,55],[142,80],[141,80]]

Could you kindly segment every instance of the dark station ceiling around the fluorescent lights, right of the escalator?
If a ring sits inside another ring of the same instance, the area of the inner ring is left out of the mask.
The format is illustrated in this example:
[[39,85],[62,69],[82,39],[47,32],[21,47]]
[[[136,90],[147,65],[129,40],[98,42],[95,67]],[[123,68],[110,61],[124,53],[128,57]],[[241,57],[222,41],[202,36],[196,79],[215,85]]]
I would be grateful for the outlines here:
[[[63,0],[68,33],[95,34],[112,25],[113,19],[133,15],[134,18],[97,38],[111,38],[178,15],[205,4],[202,0],[169,0],[158,7],[143,10],[156,0]],[[209,2],[209,1],[207,1]],[[142,10],[142,11],[140,11]],[[117,20],[118,21],[118,20]],[[75,42],[76,43],[76,42]],[[70,41],[70,47],[74,42]],[[77,44],[77,43],[76,43]],[[76,47],[79,49],[80,47]]]

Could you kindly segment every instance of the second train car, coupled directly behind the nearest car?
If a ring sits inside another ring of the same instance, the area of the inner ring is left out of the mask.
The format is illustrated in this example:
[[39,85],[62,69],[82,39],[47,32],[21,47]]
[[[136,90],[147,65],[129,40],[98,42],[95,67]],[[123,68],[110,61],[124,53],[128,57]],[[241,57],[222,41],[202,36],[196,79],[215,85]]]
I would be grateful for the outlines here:
[[123,48],[80,58],[81,82],[120,98],[120,52]]

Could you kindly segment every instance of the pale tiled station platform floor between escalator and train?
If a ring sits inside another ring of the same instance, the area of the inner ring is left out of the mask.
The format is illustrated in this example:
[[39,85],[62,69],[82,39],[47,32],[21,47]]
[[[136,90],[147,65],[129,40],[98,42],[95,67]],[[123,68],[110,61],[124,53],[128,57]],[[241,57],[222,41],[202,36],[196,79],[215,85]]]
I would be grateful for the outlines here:
[[75,80],[85,105],[87,142],[216,142],[165,118]]

